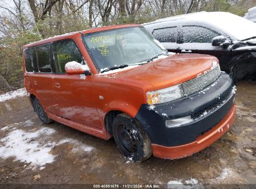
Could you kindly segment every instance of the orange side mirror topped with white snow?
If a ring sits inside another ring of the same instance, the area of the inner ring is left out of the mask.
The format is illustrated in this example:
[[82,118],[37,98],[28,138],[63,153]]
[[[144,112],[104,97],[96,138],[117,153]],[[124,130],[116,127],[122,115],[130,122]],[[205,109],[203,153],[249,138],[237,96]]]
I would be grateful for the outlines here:
[[65,64],[65,72],[68,75],[80,75],[85,74],[90,75],[90,69],[87,65],[81,65],[78,62],[72,61]]

